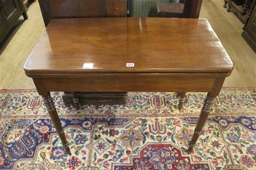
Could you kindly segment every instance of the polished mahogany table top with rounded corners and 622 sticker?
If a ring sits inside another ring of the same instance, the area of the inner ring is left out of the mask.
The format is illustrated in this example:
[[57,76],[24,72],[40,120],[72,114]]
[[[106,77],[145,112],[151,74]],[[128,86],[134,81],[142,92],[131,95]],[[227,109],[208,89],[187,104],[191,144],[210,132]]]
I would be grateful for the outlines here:
[[24,69],[28,74],[229,73],[233,63],[206,19],[86,18],[52,19]]

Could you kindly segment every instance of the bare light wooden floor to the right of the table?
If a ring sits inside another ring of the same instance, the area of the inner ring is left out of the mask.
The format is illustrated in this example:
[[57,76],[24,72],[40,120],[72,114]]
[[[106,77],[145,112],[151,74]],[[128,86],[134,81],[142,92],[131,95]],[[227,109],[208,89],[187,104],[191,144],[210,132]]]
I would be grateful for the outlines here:
[[224,0],[204,0],[199,16],[208,19],[235,64],[223,86],[256,88],[256,54],[241,36],[243,24],[223,4]]

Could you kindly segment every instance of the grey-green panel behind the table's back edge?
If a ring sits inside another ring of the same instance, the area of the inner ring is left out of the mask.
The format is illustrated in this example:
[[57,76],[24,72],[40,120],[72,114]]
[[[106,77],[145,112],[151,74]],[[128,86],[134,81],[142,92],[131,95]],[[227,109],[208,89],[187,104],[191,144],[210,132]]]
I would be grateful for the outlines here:
[[179,0],[130,0],[131,17],[157,17],[157,1],[179,2]]

